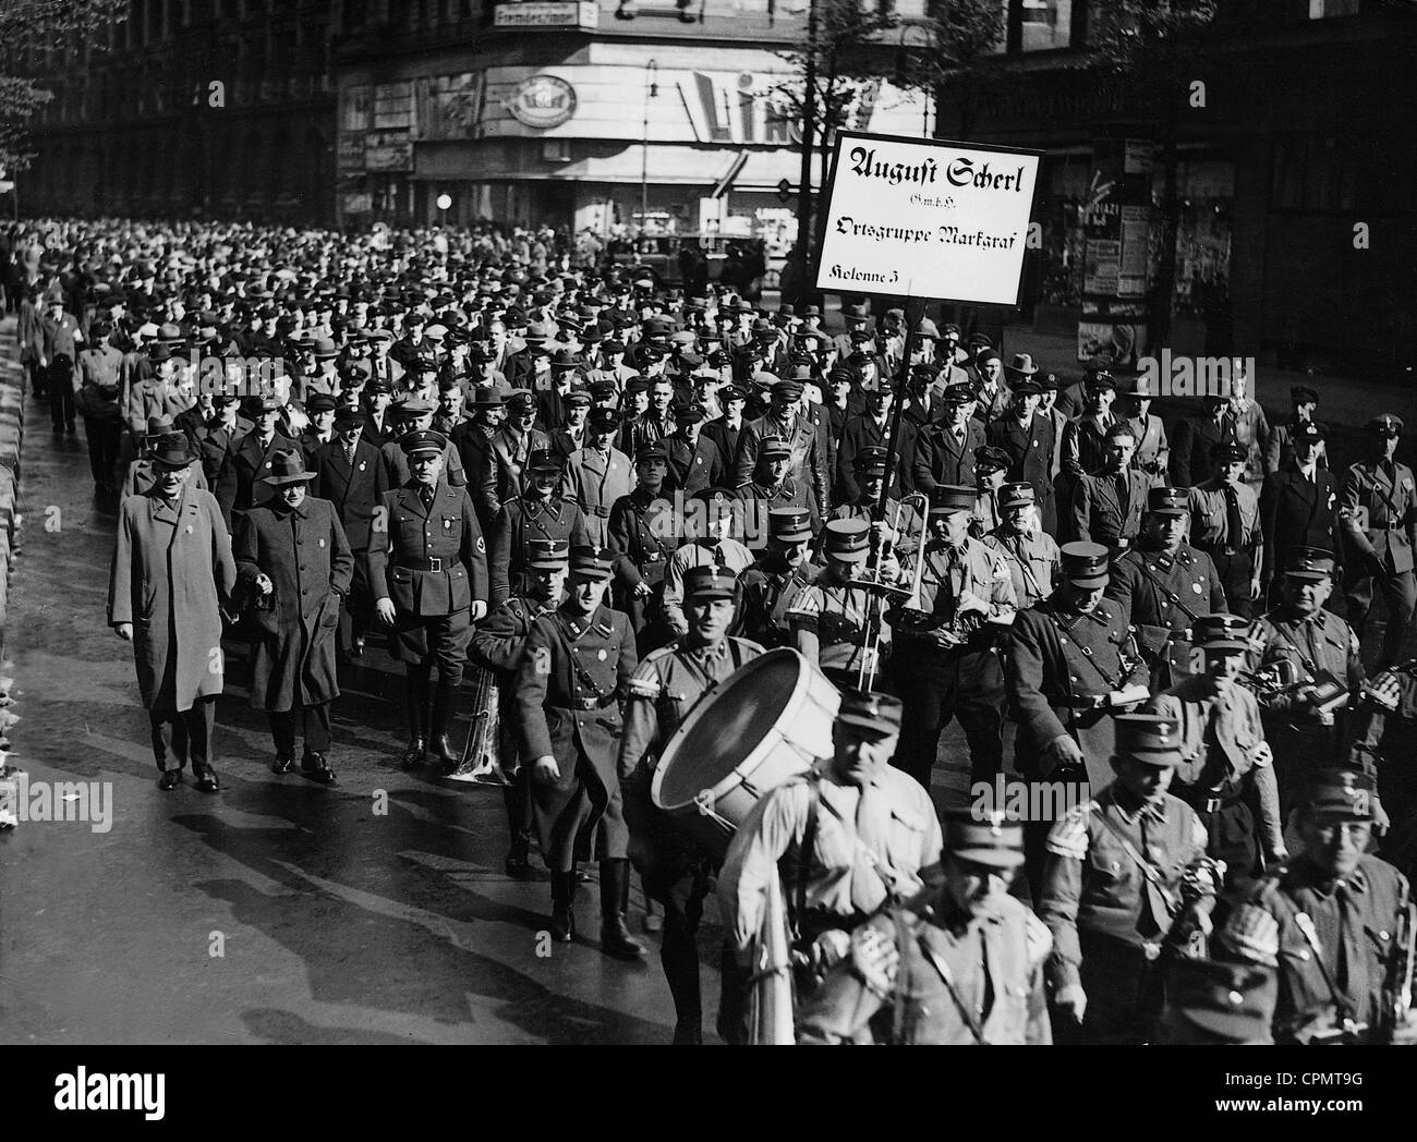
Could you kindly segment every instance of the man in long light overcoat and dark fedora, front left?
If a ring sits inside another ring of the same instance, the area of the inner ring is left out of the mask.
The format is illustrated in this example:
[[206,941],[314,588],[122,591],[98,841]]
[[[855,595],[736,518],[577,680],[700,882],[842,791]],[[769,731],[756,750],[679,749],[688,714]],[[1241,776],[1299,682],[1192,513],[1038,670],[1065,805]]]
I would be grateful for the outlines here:
[[210,492],[188,487],[197,460],[180,432],[153,452],[157,480],[119,509],[108,623],[133,643],[137,689],[153,731],[159,786],[191,762],[215,792],[213,730],[222,687],[221,606],[237,582],[231,540]]

